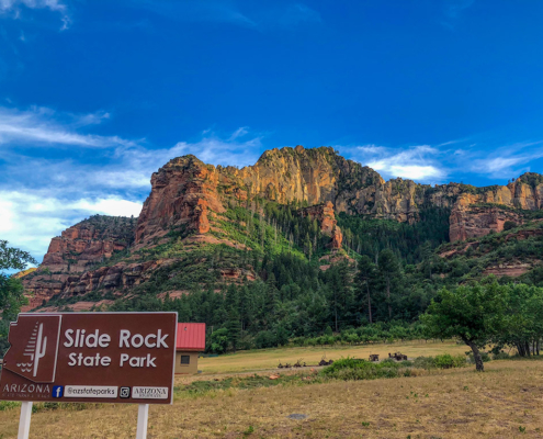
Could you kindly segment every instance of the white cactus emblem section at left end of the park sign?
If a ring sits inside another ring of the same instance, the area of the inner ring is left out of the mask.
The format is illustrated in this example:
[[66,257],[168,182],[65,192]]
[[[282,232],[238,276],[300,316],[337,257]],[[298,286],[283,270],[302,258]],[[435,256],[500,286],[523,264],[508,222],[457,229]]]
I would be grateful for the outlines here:
[[61,315],[20,315],[10,324],[3,368],[35,383],[55,381]]

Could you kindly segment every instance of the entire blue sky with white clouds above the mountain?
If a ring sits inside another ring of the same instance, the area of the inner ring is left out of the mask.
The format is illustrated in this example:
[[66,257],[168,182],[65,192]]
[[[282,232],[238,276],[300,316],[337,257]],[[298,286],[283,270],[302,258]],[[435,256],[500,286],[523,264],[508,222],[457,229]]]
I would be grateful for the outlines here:
[[170,158],[333,146],[385,178],[543,170],[543,2],[0,0],[0,238],[137,215]]

